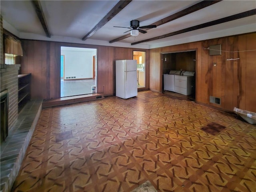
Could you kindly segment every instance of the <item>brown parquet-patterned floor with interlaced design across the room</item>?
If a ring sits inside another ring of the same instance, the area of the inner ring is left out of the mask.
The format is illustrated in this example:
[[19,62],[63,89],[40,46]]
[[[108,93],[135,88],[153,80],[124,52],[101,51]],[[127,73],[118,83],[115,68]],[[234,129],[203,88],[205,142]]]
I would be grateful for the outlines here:
[[[201,128],[225,126],[217,135]],[[169,94],[42,110],[15,192],[255,192],[256,126]]]

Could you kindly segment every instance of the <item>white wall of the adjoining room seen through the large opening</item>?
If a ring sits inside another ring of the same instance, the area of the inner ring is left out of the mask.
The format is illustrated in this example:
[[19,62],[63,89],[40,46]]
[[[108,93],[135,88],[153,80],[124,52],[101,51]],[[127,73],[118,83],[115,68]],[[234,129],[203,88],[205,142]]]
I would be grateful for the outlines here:
[[64,55],[64,80],[92,78],[96,49],[61,47],[61,54]]

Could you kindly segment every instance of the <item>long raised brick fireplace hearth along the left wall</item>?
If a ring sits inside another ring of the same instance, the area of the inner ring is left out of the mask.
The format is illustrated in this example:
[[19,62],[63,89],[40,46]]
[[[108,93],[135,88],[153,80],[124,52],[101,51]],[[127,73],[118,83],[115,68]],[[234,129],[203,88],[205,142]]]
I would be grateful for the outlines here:
[[[9,95],[10,96],[10,95]],[[42,100],[31,100],[0,146],[0,191],[10,192],[42,110]]]

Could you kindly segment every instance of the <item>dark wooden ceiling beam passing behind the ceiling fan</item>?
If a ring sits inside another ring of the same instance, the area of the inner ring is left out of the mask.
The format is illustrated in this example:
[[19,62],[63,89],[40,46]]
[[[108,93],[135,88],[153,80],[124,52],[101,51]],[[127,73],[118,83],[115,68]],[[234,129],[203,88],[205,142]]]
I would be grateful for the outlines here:
[[[172,14],[172,15],[166,17],[166,18],[163,18],[163,19],[161,19],[161,20],[159,20],[157,22],[154,22],[154,23],[152,23],[150,25],[160,26],[162,24],[165,24],[165,23],[170,22],[172,20],[178,19],[180,17],[183,17],[185,15],[188,15],[188,14],[190,14],[192,12],[198,11],[198,10],[200,10],[202,8],[208,7],[208,6],[212,5],[212,4],[218,3],[220,1],[221,0],[219,0],[219,1],[211,1],[211,0],[209,0],[209,1],[208,0],[201,1],[201,2],[199,2],[197,4],[194,4],[194,5],[188,7],[186,9],[184,9],[184,10],[181,10],[181,11],[179,11],[177,13],[174,13],[174,14]],[[144,30],[147,31],[147,30],[150,30],[150,29],[144,29]],[[128,38],[128,37],[130,37],[130,34],[126,34],[124,36],[121,36],[119,38],[111,40],[109,43],[114,43],[114,42],[120,41],[120,40]]]

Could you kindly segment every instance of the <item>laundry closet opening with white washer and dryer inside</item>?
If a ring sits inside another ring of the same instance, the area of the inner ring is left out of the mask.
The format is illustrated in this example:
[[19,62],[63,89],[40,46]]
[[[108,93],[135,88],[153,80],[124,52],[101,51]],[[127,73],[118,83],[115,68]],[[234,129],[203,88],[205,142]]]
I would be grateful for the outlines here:
[[196,98],[196,50],[162,53],[162,90]]

